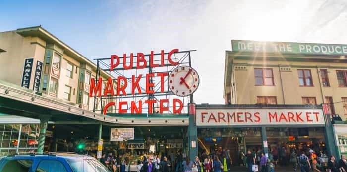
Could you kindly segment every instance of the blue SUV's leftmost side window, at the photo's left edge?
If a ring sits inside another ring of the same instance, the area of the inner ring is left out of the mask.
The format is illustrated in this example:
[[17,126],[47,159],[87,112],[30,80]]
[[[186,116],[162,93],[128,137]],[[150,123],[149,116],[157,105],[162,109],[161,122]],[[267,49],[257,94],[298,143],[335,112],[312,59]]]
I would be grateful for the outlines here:
[[0,172],[29,172],[31,165],[33,164],[32,160],[5,160],[5,164],[0,169]]

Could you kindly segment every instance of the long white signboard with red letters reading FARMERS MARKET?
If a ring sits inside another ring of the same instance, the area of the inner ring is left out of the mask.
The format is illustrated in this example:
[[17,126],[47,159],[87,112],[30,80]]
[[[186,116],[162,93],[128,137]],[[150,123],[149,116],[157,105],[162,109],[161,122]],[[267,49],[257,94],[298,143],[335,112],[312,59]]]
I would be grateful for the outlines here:
[[196,109],[197,126],[324,124],[321,109]]

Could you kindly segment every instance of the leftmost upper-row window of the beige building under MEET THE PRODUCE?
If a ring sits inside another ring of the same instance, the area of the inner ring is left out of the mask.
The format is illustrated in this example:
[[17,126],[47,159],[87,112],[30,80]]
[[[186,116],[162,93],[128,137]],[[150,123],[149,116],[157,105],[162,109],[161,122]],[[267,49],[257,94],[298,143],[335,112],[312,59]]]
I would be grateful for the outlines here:
[[254,68],[255,85],[274,85],[272,69]]

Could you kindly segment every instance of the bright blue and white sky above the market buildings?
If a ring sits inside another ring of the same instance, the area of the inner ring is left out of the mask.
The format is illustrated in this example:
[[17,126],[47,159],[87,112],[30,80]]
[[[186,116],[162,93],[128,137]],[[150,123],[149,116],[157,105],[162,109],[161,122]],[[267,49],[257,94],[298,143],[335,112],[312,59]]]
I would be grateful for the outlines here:
[[198,104],[224,104],[231,40],[347,44],[347,0],[3,0],[0,32],[42,25],[90,59],[197,50]]

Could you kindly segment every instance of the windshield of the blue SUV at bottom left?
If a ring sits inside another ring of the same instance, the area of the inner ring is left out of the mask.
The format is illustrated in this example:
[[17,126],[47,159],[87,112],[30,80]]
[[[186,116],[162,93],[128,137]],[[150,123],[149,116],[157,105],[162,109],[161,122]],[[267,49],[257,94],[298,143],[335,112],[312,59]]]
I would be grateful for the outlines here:
[[110,172],[98,160],[92,158],[74,158],[68,159],[73,172]]

